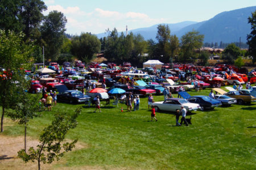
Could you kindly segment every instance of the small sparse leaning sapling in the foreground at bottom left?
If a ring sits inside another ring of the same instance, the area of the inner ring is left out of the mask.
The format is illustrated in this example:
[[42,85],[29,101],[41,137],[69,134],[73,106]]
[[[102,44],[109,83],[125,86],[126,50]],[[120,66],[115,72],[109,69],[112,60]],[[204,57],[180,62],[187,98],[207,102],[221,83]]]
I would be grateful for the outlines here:
[[52,124],[44,128],[43,133],[40,135],[40,144],[37,148],[30,147],[28,154],[24,150],[20,150],[18,152],[19,158],[22,158],[24,162],[29,160],[32,160],[32,162],[37,161],[38,169],[40,170],[41,162],[44,164],[52,163],[55,159],[59,160],[65,152],[71,151],[75,147],[77,139],[71,143],[63,143],[63,141],[68,131],[76,128],[76,119],[81,110],[81,108],[77,108],[74,113],[56,113]]

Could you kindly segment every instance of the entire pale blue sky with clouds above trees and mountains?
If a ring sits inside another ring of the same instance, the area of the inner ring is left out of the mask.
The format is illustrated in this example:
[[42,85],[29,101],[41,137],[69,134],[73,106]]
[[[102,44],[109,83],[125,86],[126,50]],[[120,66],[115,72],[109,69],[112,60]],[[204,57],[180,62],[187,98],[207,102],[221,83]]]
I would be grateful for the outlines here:
[[160,23],[201,22],[223,11],[256,6],[255,0],[43,0],[49,11],[64,13],[67,33],[102,33],[150,27]]

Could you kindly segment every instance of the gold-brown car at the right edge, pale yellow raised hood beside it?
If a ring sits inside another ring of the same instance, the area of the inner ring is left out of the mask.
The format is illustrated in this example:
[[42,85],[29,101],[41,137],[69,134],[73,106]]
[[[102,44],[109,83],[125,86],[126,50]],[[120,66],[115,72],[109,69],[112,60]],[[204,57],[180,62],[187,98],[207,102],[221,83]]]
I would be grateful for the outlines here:
[[251,103],[251,101],[256,101],[256,98],[251,95],[243,94],[240,91],[229,91],[226,92],[220,88],[213,88],[212,90],[218,92],[221,95],[226,95],[229,97],[232,97],[234,99],[237,99],[237,104],[241,105],[243,103]]

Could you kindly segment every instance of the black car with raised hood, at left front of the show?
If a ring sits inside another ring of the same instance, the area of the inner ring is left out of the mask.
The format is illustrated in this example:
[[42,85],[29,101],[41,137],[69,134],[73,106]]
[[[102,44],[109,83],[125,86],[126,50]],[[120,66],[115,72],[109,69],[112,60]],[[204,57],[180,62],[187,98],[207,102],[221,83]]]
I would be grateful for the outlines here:
[[65,101],[68,103],[85,103],[90,100],[90,96],[82,94],[81,91],[68,90],[67,86],[61,85],[56,87],[59,91],[57,101]]

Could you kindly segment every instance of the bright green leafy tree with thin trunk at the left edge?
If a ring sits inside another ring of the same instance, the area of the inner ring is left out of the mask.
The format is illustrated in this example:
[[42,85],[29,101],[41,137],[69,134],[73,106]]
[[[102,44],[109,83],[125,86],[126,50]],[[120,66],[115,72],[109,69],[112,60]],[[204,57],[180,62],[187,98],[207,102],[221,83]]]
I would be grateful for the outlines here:
[[7,108],[13,107],[18,98],[16,82],[19,80],[20,69],[28,69],[32,60],[34,46],[24,42],[24,34],[0,29],[0,104],[2,106],[1,131],[3,117]]

